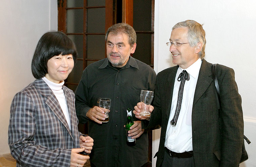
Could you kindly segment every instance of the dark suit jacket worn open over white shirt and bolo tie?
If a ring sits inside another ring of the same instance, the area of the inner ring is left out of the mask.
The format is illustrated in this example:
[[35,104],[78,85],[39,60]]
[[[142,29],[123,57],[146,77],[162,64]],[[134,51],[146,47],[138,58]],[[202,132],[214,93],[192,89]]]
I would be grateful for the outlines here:
[[[178,66],[170,67],[157,75],[154,111],[147,126],[152,128],[161,125],[159,150],[156,154],[157,167],[161,166],[164,159],[165,135],[177,69]],[[234,79],[234,71],[219,65],[217,77],[222,107],[220,113],[211,63],[203,59],[192,109],[192,139],[196,167],[235,167],[239,165],[242,154],[242,100]]]

